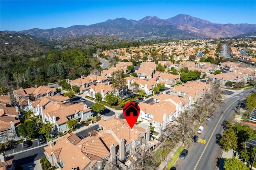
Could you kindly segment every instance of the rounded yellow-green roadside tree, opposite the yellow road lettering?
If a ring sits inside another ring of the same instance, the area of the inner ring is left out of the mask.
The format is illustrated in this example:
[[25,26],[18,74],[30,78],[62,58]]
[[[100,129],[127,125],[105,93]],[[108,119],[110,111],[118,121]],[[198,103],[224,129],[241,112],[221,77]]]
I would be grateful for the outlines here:
[[237,148],[237,137],[232,128],[225,129],[220,139],[220,144],[224,150],[235,150]]

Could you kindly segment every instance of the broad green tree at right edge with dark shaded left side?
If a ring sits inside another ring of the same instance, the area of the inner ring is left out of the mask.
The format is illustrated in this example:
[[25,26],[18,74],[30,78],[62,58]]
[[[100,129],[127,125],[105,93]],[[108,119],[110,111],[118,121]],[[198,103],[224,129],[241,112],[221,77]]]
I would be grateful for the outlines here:
[[248,125],[234,124],[233,130],[236,136],[238,137],[238,144],[247,142],[255,138],[256,130],[253,130]]

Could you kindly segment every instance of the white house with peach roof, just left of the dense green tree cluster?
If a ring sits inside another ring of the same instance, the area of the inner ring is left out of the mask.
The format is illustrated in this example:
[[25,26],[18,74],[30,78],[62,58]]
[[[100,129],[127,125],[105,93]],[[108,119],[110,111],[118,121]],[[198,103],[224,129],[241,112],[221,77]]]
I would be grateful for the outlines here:
[[177,84],[177,81],[180,80],[180,75],[173,75],[169,73],[162,73],[156,71],[154,77],[158,79],[158,83],[164,83],[165,87],[172,87]]

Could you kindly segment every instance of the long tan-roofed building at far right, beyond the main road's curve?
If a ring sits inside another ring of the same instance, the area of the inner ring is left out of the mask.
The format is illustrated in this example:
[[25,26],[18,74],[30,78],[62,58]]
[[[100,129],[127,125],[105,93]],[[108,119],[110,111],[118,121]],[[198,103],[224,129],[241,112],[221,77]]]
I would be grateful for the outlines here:
[[217,84],[217,85],[225,85],[226,82],[231,81],[233,83],[247,83],[248,80],[248,74],[239,74],[239,73],[220,73],[220,74],[212,74],[209,77],[209,80],[211,83]]

